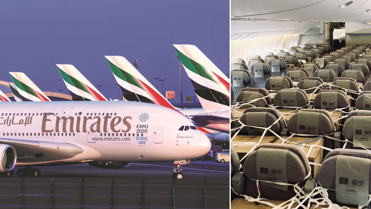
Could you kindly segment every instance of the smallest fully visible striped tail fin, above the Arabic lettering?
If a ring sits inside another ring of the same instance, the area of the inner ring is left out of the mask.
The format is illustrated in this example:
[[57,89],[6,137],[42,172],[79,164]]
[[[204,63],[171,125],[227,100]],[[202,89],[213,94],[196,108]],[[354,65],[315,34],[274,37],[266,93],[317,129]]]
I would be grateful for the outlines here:
[[9,72],[23,101],[51,101],[24,73]]

